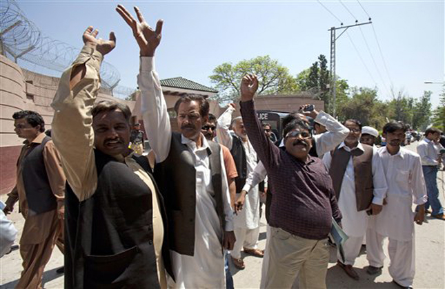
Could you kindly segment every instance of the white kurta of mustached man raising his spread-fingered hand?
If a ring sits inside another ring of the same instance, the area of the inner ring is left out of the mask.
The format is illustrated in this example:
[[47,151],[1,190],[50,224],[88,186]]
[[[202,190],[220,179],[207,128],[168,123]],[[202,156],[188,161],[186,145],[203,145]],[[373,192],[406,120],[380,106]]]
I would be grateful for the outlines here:
[[[168,157],[171,142],[170,118],[166,101],[162,94],[159,78],[155,72],[154,58],[141,57],[138,76],[141,89],[141,113],[144,118],[146,133],[150,146],[156,154],[156,161],[163,162]],[[182,136],[181,142],[186,144],[194,156],[196,170],[196,207],[195,207],[195,251],[193,256],[181,255],[170,250],[172,267],[176,283],[170,279],[172,288],[224,288],[224,255],[219,239],[221,232],[216,212],[215,199],[211,182],[210,164],[208,159],[208,142],[201,134],[202,146]],[[223,191],[224,213],[226,214],[226,231],[233,231],[233,211],[230,206],[230,193],[224,167],[222,150],[221,183]]]

